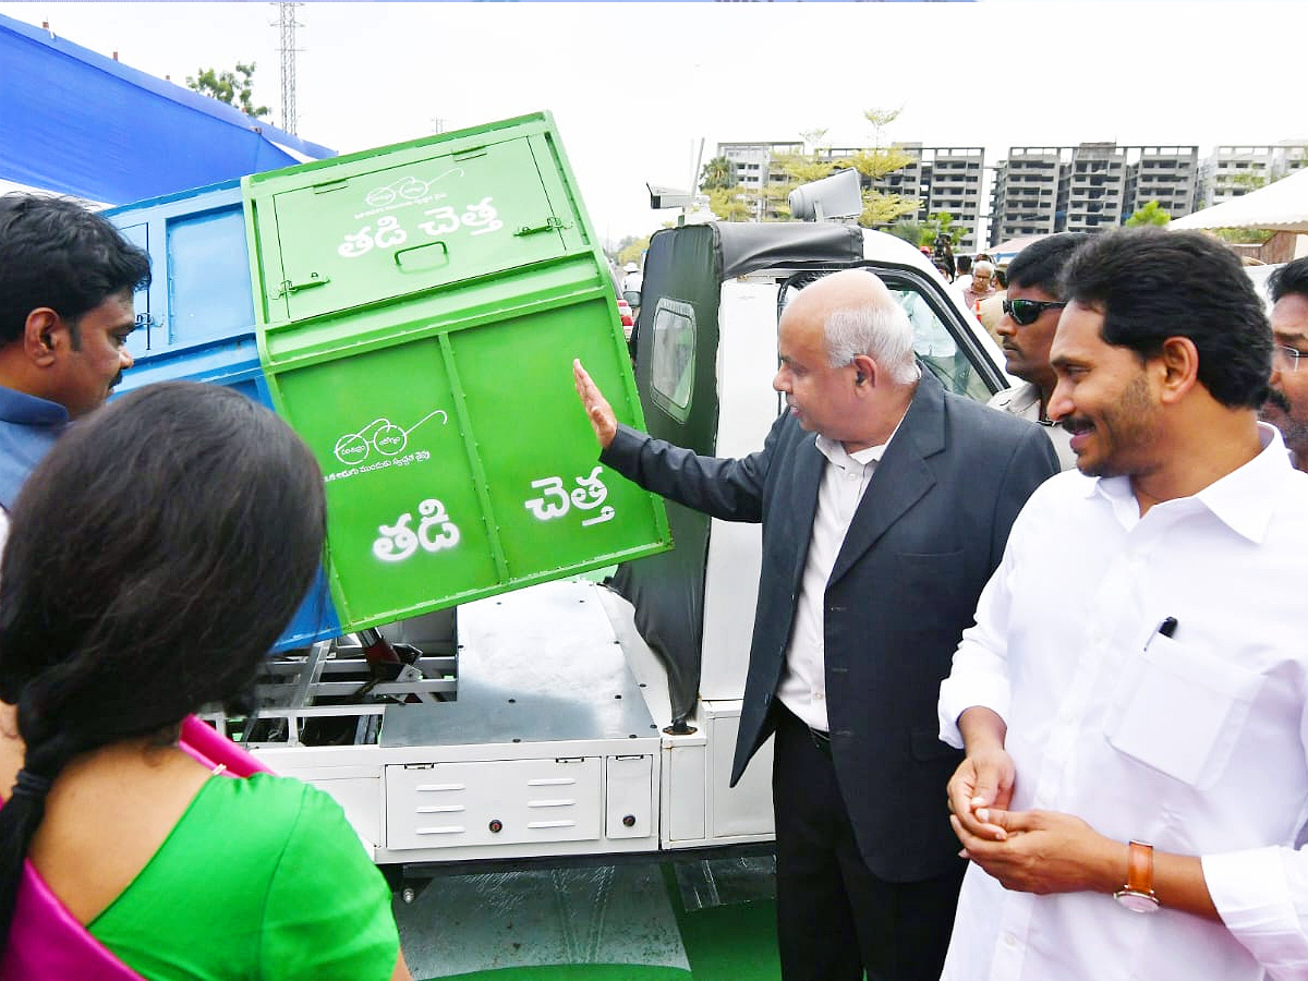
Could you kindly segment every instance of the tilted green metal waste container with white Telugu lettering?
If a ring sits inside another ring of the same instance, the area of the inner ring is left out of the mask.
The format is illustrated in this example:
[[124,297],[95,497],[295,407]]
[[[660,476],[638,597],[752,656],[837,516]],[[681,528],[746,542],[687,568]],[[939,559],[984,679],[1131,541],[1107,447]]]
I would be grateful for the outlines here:
[[327,479],[345,630],[671,545],[596,463],[581,357],[642,425],[548,114],[242,181],[273,405]]

